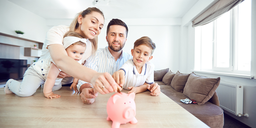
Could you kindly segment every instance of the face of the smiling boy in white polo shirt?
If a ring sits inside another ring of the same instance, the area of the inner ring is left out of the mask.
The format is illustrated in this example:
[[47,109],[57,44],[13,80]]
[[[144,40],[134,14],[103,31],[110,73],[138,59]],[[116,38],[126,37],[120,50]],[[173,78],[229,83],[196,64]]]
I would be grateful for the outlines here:
[[147,61],[150,61],[152,49],[146,45],[140,45],[131,50],[133,56],[133,62],[135,66],[142,67]]

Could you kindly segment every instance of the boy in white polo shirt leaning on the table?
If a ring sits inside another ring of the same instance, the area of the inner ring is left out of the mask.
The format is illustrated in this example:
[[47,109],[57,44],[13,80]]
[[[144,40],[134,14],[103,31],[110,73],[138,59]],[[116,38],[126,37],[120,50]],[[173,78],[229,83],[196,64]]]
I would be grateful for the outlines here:
[[144,92],[150,88],[150,84],[154,83],[155,66],[149,61],[153,58],[155,48],[155,43],[149,37],[137,39],[131,50],[133,59],[127,60],[120,70],[112,75],[118,84],[122,81],[120,76],[125,76],[123,88],[131,90],[128,93]]

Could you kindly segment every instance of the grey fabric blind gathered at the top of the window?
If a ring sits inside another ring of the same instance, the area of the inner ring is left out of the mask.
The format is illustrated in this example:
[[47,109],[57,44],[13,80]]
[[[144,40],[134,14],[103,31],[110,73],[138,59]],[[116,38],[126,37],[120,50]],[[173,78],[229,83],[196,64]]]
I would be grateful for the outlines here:
[[244,0],[219,0],[192,21],[192,27],[208,24],[228,12]]

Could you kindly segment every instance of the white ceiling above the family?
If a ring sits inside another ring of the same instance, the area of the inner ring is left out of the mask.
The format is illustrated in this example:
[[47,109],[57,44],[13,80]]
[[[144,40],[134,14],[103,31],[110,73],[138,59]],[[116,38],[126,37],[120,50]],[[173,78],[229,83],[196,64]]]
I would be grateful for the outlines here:
[[[45,19],[73,19],[93,0],[8,0]],[[98,0],[105,19],[182,18],[198,0]]]

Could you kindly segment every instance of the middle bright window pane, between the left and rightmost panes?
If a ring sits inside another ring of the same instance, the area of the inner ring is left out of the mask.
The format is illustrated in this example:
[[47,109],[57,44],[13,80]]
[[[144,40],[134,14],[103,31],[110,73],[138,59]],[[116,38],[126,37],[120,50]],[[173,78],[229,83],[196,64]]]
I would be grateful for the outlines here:
[[229,67],[230,11],[216,20],[216,67]]

